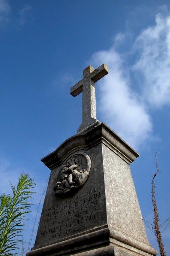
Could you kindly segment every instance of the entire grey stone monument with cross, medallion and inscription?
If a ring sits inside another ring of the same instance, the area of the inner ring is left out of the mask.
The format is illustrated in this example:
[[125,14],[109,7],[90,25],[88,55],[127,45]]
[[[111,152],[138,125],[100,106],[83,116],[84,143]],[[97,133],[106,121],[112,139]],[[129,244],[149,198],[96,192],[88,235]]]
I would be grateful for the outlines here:
[[71,87],[83,93],[78,133],[42,158],[51,170],[35,245],[27,256],[156,255],[148,243],[129,165],[135,152],[96,119],[103,64]]

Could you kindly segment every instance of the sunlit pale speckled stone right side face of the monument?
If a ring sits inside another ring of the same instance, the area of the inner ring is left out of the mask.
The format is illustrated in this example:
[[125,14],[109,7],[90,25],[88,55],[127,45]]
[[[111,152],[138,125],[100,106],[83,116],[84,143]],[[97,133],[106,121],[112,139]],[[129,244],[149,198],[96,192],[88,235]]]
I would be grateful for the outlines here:
[[104,144],[102,153],[109,227],[145,243],[147,236],[129,165]]

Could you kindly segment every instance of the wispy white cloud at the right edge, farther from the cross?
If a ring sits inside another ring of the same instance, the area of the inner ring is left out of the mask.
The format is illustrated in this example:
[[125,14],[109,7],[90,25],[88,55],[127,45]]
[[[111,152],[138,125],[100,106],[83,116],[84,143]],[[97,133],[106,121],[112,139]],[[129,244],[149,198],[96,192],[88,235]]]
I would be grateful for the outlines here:
[[156,15],[155,26],[136,38],[134,50],[139,55],[133,71],[141,76],[143,98],[152,107],[170,103],[170,16]]

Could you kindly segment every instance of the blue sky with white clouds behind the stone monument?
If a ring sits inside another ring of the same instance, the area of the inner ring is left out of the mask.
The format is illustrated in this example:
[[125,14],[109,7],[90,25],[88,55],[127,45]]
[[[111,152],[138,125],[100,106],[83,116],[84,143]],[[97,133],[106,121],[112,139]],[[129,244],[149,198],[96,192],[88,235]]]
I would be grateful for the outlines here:
[[[131,171],[143,218],[153,219],[156,151],[160,223],[170,216],[169,1],[0,0],[0,62],[0,193],[23,171],[37,183],[26,242],[49,177],[40,159],[77,132],[82,95],[69,91],[90,64],[110,69],[96,83],[98,120],[140,154]],[[169,255],[170,227],[162,236]]]

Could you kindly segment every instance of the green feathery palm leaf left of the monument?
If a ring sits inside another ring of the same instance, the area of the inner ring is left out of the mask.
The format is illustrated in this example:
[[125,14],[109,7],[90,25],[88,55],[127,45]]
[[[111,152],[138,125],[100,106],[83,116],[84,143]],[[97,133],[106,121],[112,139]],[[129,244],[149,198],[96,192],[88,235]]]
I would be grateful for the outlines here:
[[[17,255],[16,250],[22,242],[25,215],[30,212],[31,191],[34,180],[25,173],[19,177],[17,187],[11,184],[13,195],[0,195],[0,256]],[[15,252],[12,252],[14,251]]]

